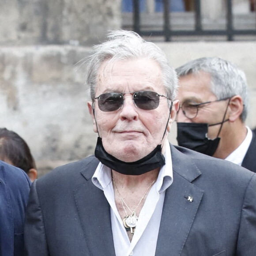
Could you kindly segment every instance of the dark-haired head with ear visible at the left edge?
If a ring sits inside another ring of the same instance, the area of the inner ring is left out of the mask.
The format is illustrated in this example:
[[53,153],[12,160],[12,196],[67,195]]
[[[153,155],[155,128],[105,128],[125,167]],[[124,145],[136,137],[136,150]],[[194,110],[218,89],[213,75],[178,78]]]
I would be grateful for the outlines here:
[[0,128],[0,160],[23,169],[31,181],[37,178],[35,161],[27,143],[6,128]]

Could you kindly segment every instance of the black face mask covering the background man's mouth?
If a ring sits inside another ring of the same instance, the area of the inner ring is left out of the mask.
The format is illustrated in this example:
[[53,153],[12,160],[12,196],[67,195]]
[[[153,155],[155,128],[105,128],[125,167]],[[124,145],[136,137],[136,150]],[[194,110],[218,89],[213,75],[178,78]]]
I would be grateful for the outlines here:
[[177,123],[178,145],[212,156],[220,138],[208,139],[207,132],[208,124]]

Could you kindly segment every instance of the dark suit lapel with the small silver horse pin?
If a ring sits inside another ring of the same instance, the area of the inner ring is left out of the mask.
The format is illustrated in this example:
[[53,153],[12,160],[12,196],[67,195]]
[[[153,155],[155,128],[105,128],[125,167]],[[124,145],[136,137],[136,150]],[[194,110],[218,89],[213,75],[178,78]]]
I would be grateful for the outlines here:
[[171,154],[173,184],[166,190],[156,256],[181,255],[203,196],[203,190],[191,183],[200,176],[199,169],[173,146]]

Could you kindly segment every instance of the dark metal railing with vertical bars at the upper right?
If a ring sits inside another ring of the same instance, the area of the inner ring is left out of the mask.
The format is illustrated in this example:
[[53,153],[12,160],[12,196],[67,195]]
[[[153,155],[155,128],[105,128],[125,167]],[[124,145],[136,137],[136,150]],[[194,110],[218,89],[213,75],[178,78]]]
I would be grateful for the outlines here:
[[[162,30],[143,30],[140,23],[139,0],[133,0],[133,30],[142,36],[164,36],[165,41],[171,41],[172,36],[226,36],[228,41],[233,41],[235,35],[256,35],[254,29],[235,29],[233,26],[232,0],[226,0],[226,29],[203,29],[201,0],[195,3],[195,26],[194,30],[173,30],[170,23],[169,0],[163,1],[163,28]],[[256,12],[255,12],[256,14]],[[255,19],[256,22],[256,19]]]

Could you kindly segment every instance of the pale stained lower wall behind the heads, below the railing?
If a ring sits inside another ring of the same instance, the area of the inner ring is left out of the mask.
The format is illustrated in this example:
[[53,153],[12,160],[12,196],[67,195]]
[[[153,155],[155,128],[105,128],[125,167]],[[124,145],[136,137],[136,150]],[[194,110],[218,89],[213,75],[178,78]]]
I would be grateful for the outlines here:
[[[256,43],[158,43],[176,68],[188,60],[219,56],[242,68],[251,107],[247,124],[256,126]],[[0,48],[0,127],[29,144],[40,175],[55,166],[93,154],[97,134],[87,111],[85,66],[90,47],[30,46]],[[169,139],[176,143],[175,124]]]

